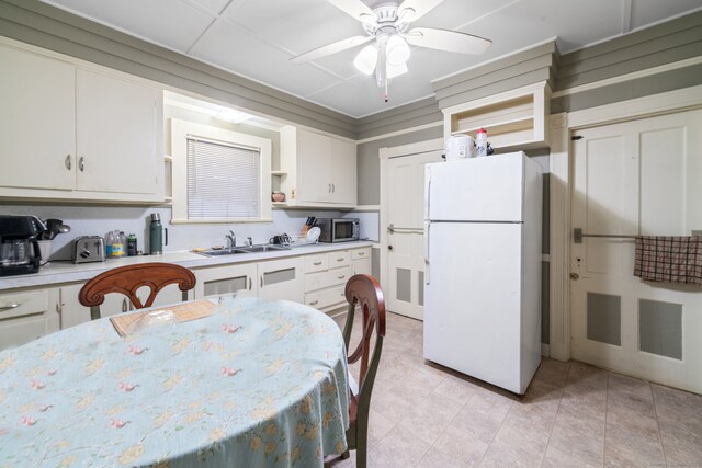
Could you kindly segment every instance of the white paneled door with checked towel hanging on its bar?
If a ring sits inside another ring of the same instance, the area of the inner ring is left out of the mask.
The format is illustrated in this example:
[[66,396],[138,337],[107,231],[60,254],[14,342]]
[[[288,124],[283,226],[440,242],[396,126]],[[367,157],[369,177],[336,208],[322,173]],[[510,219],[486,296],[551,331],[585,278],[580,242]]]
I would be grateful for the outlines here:
[[702,229],[702,111],[576,134],[571,227],[608,237],[574,230],[571,355],[702,393],[702,288],[634,276],[626,237]]

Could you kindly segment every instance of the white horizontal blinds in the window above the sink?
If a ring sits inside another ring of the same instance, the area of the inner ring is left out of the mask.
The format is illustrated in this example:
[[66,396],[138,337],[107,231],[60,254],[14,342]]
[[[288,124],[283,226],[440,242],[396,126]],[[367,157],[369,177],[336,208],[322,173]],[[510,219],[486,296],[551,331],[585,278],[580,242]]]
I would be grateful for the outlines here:
[[258,149],[188,136],[188,218],[260,217]]

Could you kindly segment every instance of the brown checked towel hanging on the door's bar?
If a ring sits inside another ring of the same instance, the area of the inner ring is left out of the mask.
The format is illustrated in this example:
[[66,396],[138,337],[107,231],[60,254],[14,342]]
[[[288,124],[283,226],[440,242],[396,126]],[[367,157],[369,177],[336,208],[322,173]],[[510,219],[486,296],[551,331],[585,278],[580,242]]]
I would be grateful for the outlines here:
[[702,286],[702,237],[638,236],[634,276]]

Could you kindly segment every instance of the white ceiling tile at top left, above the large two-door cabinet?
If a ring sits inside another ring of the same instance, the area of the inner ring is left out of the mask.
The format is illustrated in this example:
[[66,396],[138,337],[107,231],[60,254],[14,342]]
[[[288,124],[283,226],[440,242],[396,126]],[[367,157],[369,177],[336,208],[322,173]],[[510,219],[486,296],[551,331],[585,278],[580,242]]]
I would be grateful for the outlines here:
[[188,50],[213,16],[179,0],[45,0],[176,50]]

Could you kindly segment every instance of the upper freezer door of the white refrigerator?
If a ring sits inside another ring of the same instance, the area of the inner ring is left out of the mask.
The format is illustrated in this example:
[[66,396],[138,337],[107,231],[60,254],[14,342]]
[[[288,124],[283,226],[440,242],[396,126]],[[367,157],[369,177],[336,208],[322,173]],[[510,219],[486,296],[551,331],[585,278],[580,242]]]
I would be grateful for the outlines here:
[[523,220],[524,153],[428,164],[426,217],[443,221]]

